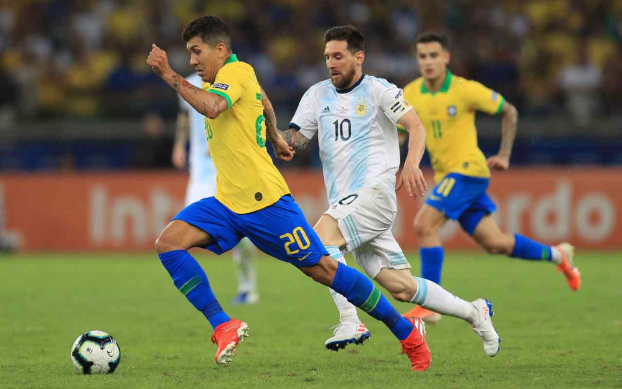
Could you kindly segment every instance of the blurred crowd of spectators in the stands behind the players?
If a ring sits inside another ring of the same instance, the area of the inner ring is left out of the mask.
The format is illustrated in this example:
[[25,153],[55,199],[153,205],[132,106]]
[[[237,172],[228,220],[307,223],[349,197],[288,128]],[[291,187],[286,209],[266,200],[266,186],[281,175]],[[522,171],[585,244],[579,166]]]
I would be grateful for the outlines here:
[[[364,71],[398,86],[434,29],[452,38],[453,73],[519,109],[514,163],[622,163],[622,0],[17,0],[0,1],[0,168],[171,167],[177,96],[144,61],[156,43],[190,74],[181,32],[203,14],[228,23],[281,127],[327,78],[329,27],[359,27]],[[499,119],[480,129],[494,152]]]

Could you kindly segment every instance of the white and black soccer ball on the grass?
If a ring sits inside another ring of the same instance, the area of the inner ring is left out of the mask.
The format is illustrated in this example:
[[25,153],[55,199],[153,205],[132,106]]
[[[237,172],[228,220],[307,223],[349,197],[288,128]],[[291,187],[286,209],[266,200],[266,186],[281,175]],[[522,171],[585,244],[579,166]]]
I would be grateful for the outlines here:
[[110,334],[88,331],[73,342],[71,356],[79,373],[113,373],[121,361],[121,350]]

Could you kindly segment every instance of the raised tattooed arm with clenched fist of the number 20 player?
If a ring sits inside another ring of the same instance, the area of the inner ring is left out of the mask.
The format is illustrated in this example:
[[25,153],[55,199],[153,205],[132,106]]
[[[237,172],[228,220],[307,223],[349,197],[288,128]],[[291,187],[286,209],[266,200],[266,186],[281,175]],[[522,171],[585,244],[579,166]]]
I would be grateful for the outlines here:
[[155,44],[151,46],[151,52],[149,52],[147,57],[147,65],[151,66],[154,73],[159,75],[171,88],[175,89],[192,108],[210,119],[216,119],[220,112],[229,108],[225,98],[197,88],[175,73],[169,66],[166,52]]

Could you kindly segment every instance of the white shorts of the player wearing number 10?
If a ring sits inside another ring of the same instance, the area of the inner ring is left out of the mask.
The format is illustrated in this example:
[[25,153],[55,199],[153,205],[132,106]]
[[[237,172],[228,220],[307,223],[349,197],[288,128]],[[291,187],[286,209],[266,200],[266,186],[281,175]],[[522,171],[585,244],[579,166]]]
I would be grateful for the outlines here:
[[325,214],[334,217],[346,249],[369,277],[383,267],[397,270],[411,268],[391,232],[397,214],[395,191],[380,183],[344,196]]

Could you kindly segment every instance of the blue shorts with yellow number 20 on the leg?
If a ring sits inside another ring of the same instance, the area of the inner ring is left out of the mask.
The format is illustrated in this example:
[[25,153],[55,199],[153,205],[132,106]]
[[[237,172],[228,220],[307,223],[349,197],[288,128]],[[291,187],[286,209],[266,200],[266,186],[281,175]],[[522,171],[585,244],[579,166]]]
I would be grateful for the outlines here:
[[173,220],[185,221],[210,234],[212,241],[205,249],[218,255],[233,249],[245,236],[262,252],[296,267],[313,266],[328,255],[289,195],[246,214],[234,213],[215,197],[208,197],[183,208]]

